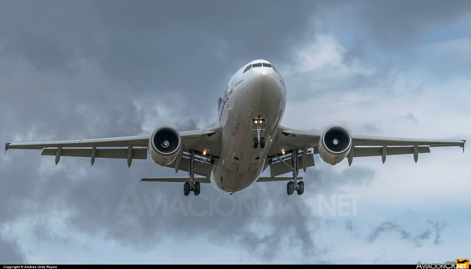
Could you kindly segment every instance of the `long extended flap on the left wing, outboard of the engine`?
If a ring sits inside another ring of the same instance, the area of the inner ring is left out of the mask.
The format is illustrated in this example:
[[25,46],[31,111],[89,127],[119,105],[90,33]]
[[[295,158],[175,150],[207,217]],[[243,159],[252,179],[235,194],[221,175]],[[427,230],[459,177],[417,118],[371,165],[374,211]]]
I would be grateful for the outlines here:
[[[60,156],[91,158],[91,149],[62,149]],[[57,149],[43,149],[41,155],[56,156]],[[128,149],[97,149],[96,158],[127,159]],[[147,149],[133,149],[133,159],[147,159]]]

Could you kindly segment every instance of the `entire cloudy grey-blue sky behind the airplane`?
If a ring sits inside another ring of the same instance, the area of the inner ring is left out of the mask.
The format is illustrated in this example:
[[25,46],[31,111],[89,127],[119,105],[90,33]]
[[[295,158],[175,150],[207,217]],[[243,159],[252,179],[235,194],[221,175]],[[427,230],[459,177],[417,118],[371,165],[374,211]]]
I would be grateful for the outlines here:
[[[469,1],[81,0],[0,2],[0,141],[211,127],[228,79],[255,59],[284,77],[284,126],[471,139]],[[182,184],[139,182],[174,175],[150,159],[55,166],[40,150],[8,150],[0,263],[470,258],[470,153],[430,151],[417,164],[407,155],[350,167],[316,156],[302,196],[285,183],[230,198],[203,185],[193,201]],[[359,197],[356,216],[352,198],[339,210],[345,194]],[[319,216],[323,198],[333,212]]]

